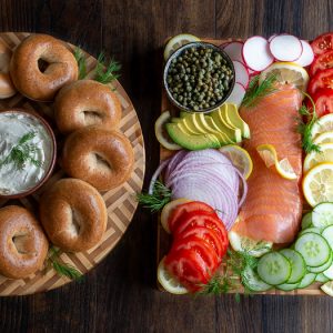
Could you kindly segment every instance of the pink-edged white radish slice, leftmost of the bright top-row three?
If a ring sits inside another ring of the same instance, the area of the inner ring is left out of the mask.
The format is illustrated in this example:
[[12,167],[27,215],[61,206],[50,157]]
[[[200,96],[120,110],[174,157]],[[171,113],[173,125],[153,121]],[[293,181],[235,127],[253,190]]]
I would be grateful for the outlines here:
[[245,41],[242,54],[245,64],[253,71],[263,71],[274,61],[268,40],[260,36]]

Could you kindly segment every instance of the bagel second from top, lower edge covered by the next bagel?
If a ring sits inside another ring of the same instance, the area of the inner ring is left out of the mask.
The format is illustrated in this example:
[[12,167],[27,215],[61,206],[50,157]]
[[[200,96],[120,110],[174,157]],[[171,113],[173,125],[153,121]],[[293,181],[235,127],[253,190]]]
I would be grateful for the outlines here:
[[121,119],[121,105],[115,93],[93,80],[80,80],[63,87],[56,98],[56,121],[61,133],[87,125],[114,129]]

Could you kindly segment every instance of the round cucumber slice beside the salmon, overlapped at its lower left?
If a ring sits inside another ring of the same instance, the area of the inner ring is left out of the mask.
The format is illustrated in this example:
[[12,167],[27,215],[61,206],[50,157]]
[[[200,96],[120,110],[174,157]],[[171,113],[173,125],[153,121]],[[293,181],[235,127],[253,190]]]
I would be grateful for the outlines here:
[[302,234],[295,243],[295,250],[300,252],[307,266],[319,268],[330,260],[331,248],[320,234],[309,232]]

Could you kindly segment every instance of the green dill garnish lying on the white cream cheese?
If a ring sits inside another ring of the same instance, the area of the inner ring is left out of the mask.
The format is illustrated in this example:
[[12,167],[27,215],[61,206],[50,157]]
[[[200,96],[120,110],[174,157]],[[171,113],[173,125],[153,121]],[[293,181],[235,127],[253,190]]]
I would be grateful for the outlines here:
[[0,168],[4,164],[14,163],[18,169],[22,169],[27,162],[36,167],[41,167],[41,162],[37,160],[36,153],[40,150],[36,143],[29,143],[36,137],[36,132],[29,132],[20,138],[9,154],[0,162]]

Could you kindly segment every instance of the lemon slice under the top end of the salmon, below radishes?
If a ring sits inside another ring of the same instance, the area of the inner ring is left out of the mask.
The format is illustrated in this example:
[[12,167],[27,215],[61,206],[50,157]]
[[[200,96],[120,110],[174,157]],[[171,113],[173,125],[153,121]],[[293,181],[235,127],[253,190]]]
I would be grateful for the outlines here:
[[292,84],[301,91],[305,91],[309,82],[309,74],[303,67],[293,62],[274,62],[259,77],[261,83],[268,75],[275,74],[276,80],[282,84]]

